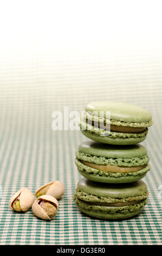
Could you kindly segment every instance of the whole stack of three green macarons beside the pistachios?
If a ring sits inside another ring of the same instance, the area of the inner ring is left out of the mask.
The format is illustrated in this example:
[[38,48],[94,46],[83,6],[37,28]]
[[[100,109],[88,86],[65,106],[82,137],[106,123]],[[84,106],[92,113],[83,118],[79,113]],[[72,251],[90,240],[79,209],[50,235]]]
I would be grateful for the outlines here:
[[73,200],[84,214],[122,220],[138,215],[147,204],[147,149],[141,145],[153,124],[147,109],[115,101],[91,102],[79,120],[89,138],[79,145],[75,163],[84,177]]

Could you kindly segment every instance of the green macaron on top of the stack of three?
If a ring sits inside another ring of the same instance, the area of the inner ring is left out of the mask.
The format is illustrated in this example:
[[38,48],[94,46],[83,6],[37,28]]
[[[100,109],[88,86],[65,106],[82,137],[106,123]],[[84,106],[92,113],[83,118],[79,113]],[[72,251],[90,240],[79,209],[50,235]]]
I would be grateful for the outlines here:
[[80,130],[89,139],[114,145],[138,144],[153,125],[151,113],[127,102],[95,101],[85,106]]

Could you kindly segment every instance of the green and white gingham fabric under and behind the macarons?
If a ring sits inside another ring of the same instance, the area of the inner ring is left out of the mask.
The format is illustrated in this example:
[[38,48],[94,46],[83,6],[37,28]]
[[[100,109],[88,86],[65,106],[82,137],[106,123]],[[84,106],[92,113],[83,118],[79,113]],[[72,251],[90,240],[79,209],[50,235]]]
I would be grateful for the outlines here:
[[[126,31],[121,31],[120,26],[113,33],[110,26],[104,25],[105,21],[108,24],[108,17],[103,16],[100,21],[102,29],[97,27],[95,2],[95,13],[90,16],[92,20],[85,34],[87,24],[79,20],[82,13],[76,12],[71,17],[66,13],[67,5],[61,13],[60,4],[54,11],[55,15],[58,11],[64,16],[58,29],[55,21],[59,15],[52,16],[51,2],[47,3],[41,2],[39,7],[35,3],[33,9],[29,5],[26,13],[16,8],[14,13],[14,5],[5,9],[9,11],[10,22],[5,23],[0,42],[0,243],[161,245],[162,36],[158,27],[161,23],[155,20],[157,23],[153,25],[157,26],[149,28],[143,23],[138,32],[134,21],[132,31],[126,27]],[[22,5],[20,8],[23,10]],[[49,15],[43,20],[46,11]],[[102,11],[106,14],[104,7]],[[84,15],[88,21],[89,11]],[[2,16],[7,21],[5,12]],[[105,27],[109,28],[109,34],[105,33]],[[54,111],[61,111],[63,118],[67,118],[64,107],[69,112],[81,113],[86,103],[95,100],[135,103],[152,113],[154,124],[141,143],[147,148],[151,164],[143,179],[149,190],[148,204],[141,214],[129,220],[96,220],[76,208],[73,193],[82,176],[74,164],[75,151],[87,138],[79,130],[52,129]],[[9,209],[10,197],[21,187],[35,193],[53,180],[65,185],[54,220],[40,220],[32,209],[25,213]]]

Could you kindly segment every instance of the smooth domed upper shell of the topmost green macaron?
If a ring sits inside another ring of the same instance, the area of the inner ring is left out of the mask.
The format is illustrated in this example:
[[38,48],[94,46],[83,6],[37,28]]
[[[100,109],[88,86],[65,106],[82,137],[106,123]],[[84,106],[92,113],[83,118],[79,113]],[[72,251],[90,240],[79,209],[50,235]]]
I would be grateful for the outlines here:
[[134,105],[126,102],[117,101],[95,101],[90,102],[85,107],[87,112],[95,112],[98,114],[100,111],[104,111],[104,117],[106,118],[106,111],[110,111],[110,118],[120,121],[132,121],[132,122],[147,122],[152,119],[151,113],[138,105]]

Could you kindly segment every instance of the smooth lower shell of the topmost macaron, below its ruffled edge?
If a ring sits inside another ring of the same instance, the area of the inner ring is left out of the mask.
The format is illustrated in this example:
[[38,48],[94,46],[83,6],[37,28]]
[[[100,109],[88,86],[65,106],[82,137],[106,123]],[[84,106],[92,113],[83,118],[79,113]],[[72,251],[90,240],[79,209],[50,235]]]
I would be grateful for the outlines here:
[[87,131],[81,130],[84,136],[86,136],[89,139],[92,139],[92,141],[97,141],[97,142],[102,142],[106,144],[112,144],[112,145],[133,145],[133,144],[138,144],[143,141],[145,141],[146,136],[144,137],[137,137],[137,138],[111,138],[109,136],[97,136],[97,135],[92,135]]

